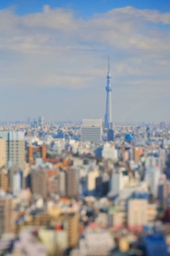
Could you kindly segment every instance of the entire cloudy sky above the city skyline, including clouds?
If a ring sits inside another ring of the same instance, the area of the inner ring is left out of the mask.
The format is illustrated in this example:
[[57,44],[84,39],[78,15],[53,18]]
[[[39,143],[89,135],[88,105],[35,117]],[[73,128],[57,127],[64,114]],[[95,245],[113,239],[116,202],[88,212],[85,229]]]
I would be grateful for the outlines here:
[[0,119],[170,121],[169,0],[0,0]]

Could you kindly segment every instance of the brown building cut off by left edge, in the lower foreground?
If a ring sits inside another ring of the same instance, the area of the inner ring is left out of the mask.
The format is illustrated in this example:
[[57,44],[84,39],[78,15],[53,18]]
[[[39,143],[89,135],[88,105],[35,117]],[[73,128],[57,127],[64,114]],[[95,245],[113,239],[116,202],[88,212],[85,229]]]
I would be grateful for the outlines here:
[[12,230],[11,213],[12,199],[9,196],[0,196],[0,236]]

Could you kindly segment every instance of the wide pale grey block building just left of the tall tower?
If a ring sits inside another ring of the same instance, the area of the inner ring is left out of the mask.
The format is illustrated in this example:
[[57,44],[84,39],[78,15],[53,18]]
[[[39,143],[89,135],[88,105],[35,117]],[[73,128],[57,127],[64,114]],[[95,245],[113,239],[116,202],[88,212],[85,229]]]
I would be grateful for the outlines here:
[[81,140],[99,142],[102,139],[102,119],[83,119]]

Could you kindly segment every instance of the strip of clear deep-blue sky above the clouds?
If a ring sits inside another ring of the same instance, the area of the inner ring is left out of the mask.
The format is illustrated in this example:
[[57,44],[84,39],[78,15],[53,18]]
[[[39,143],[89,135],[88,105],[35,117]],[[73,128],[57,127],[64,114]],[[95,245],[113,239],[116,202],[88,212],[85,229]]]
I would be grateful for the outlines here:
[[24,15],[42,11],[42,6],[46,4],[52,8],[74,9],[77,15],[84,18],[93,15],[93,13],[102,13],[112,8],[120,8],[127,5],[138,9],[158,9],[160,11],[168,11],[170,8],[169,0],[1,0],[0,8],[13,6],[16,13]]

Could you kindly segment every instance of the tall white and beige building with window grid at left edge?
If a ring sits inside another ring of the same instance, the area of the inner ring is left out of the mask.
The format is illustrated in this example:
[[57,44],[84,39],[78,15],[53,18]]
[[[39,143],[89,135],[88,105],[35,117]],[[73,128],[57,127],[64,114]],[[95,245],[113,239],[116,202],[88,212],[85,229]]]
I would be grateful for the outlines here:
[[24,168],[25,140],[23,131],[0,131],[0,137],[6,141],[6,160],[11,166]]

